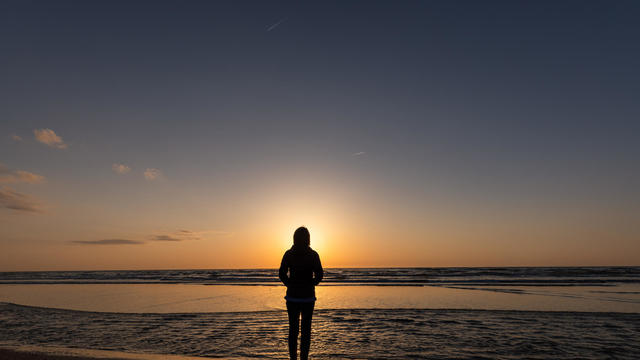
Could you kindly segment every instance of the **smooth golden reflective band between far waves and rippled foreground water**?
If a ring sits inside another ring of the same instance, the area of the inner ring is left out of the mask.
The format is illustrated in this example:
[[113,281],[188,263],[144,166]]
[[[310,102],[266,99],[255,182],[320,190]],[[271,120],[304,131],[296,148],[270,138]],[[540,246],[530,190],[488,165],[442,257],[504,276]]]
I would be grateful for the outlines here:
[[[319,286],[317,309],[486,309],[640,312],[640,285]],[[0,285],[0,301],[130,313],[284,310],[284,287],[188,284]]]

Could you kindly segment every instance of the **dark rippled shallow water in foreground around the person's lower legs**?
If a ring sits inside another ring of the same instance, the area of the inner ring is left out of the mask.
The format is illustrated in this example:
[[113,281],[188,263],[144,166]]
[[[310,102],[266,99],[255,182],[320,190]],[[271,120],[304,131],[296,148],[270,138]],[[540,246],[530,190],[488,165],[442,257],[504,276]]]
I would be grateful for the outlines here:
[[[125,352],[46,352],[91,359],[172,359],[164,354],[175,360],[285,359],[287,331],[287,315],[280,310],[125,314],[0,304],[0,344],[5,346],[27,342],[47,350]],[[313,315],[311,353],[326,360],[636,360],[639,334],[640,314],[632,313],[319,309]]]

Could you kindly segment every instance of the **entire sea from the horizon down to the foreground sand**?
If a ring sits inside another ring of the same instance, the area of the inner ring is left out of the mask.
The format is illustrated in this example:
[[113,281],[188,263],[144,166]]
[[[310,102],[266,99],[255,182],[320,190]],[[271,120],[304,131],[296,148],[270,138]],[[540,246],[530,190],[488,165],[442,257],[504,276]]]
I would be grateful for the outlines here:
[[[0,273],[0,345],[286,359],[274,269]],[[640,267],[326,269],[314,359],[636,359]]]

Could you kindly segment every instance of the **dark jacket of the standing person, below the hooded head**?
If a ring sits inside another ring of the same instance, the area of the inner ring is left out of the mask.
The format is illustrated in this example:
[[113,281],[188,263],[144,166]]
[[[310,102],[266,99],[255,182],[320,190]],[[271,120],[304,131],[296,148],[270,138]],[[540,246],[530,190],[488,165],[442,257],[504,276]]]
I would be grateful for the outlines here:
[[294,245],[284,253],[279,276],[287,287],[287,298],[315,299],[315,286],[323,275],[320,256],[310,247]]

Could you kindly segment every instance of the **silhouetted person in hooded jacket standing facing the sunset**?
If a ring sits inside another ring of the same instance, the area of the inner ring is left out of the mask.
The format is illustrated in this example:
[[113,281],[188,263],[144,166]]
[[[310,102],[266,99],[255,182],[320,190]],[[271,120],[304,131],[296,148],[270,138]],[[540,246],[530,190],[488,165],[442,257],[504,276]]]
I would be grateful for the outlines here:
[[299,321],[302,317],[300,359],[307,360],[311,345],[311,318],[316,303],[315,287],[322,281],[324,271],[320,256],[311,249],[309,230],[299,227],[293,233],[293,246],[282,256],[280,281],[287,287],[289,315],[289,357],[296,360]]

